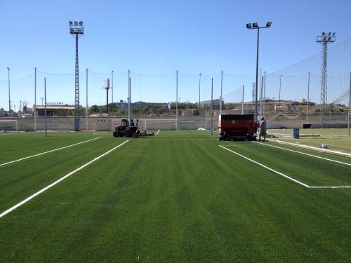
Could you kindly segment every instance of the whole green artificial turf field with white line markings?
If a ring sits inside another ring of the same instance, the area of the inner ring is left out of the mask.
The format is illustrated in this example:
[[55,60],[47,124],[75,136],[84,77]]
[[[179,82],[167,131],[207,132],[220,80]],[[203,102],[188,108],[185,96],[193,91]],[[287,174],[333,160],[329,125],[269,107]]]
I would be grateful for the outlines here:
[[0,262],[350,262],[351,158],[208,131],[0,134]]

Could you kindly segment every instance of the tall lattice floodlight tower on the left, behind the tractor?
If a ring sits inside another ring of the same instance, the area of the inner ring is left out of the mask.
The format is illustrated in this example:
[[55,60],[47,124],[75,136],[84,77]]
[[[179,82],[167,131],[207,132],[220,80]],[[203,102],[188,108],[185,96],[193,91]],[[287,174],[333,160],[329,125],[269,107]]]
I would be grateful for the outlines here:
[[79,63],[78,63],[78,39],[84,35],[83,21],[69,21],[69,33],[76,38],[76,74],[74,95],[74,130],[79,131],[80,109],[79,109]]

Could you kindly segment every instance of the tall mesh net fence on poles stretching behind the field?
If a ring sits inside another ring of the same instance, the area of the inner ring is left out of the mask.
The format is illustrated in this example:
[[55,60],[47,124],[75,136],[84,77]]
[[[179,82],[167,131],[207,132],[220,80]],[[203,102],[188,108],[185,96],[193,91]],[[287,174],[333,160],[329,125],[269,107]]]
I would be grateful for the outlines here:
[[[348,106],[350,90],[351,39],[329,46],[327,58],[327,103],[345,108]],[[278,101],[309,101],[319,104],[321,76],[322,52],[277,72],[261,70],[258,77],[258,100],[272,100],[274,105],[279,104]],[[44,104],[44,79],[47,104],[73,105],[74,77],[74,73],[56,74],[37,69],[19,79],[0,80],[0,107],[8,110],[8,84],[11,84],[10,104],[14,112],[23,111],[24,107],[30,109],[34,104]],[[250,104],[256,96],[256,74],[187,74],[182,71],[157,74],[133,70],[100,73],[85,69],[79,72],[79,104],[82,107],[97,105],[103,112],[107,102],[114,102],[118,104],[121,114],[125,114],[122,109],[126,110],[129,97],[128,78],[131,79],[131,102],[135,107],[133,114],[164,115],[166,112],[160,109],[164,105],[167,105],[168,112],[173,110],[174,113],[176,102],[180,111],[189,110],[193,115],[197,115],[199,110],[204,113],[210,107],[212,88],[214,109],[219,108],[220,95],[223,109],[238,111],[239,105],[235,104],[243,101]],[[105,79],[110,79],[110,90],[103,88]],[[152,102],[159,104],[150,107]],[[266,107],[265,110],[274,111],[277,108]],[[246,112],[250,111],[252,107],[247,106]]]

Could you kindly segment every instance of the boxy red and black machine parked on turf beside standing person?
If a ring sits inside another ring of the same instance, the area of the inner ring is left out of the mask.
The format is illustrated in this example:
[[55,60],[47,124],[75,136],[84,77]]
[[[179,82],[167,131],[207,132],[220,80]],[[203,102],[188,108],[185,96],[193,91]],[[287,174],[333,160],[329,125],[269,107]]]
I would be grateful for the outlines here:
[[259,123],[253,114],[225,114],[218,119],[219,140],[256,140]]

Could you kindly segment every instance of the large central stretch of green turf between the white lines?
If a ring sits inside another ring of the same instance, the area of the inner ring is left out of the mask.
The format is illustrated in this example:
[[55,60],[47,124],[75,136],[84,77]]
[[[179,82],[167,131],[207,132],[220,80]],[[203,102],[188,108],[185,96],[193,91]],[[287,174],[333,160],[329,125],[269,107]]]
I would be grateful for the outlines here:
[[135,139],[3,217],[0,261],[347,262],[349,201],[218,141]]

